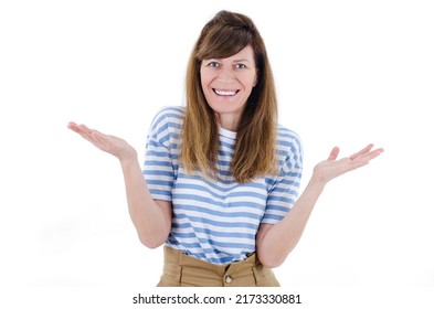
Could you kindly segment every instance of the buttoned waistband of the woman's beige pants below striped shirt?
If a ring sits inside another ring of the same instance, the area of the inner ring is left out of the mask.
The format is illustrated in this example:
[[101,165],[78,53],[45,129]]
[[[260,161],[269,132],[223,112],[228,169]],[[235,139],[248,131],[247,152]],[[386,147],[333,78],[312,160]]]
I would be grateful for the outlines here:
[[255,265],[260,264],[255,253],[250,255],[245,260],[234,262],[226,265],[216,265],[199,259],[197,257],[189,256],[186,253],[173,249],[167,245],[165,245],[165,263],[172,263],[186,267],[208,269],[218,274],[219,276],[224,276],[229,270],[231,270],[231,273],[236,273],[247,267],[254,267]]

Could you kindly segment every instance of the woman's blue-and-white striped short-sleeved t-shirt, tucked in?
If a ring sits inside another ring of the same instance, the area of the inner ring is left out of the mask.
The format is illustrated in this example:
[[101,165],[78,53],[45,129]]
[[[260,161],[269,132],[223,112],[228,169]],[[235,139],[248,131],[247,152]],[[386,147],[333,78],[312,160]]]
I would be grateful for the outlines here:
[[[236,132],[219,128],[219,179],[187,174],[179,161],[183,107],[162,108],[148,135],[144,174],[156,200],[172,202],[172,225],[166,244],[209,263],[244,260],[255,252],[261,223],[275,224],[293,206],[301,178],[298,136],[277,130],[279,174],[237,183],[229,172]],[[207,138],[207,137],[203,137]]]

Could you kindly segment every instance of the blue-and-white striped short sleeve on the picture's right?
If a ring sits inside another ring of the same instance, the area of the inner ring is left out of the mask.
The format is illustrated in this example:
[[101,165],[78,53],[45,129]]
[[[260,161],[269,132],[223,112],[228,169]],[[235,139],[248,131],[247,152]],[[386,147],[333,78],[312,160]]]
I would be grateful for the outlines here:
[[[289,212],[298,198],[303,173],[303,146],[299,137],[288,131],[278,139],[280,169],[268,179],[268,196],[261,223],[276,224]],[[282,156],[284,153],[284,156]]]

